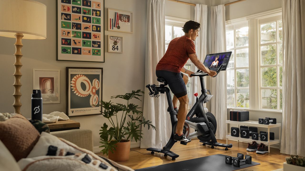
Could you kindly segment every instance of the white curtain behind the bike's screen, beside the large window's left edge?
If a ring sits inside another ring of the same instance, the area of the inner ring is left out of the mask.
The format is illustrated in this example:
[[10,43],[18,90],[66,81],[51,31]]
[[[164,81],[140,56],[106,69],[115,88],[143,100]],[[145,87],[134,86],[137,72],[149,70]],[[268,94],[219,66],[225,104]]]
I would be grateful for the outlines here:
[[[226,29],[225,29],[225,8],[224,5],[211,7],[210,25],[210,46],[211,53],[226,51]],[[217,121],[217,139],[225,139],[227,120],[227,74],[221,71],[217,77],[210,78],[210,90],[213,98],[210,100],[211,113]]]

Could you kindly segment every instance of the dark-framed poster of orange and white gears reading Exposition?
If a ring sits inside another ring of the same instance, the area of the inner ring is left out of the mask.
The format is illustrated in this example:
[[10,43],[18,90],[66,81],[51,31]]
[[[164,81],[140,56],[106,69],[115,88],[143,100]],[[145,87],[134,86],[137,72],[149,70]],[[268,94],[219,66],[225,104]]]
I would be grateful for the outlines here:
[[101,114],[103,68],[66,67],[66,114]]

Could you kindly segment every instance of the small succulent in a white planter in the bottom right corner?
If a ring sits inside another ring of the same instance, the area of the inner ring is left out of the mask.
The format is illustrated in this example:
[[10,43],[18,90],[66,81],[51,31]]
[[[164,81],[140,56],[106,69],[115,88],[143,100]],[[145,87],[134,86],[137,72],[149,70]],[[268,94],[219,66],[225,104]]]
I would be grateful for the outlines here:
[[286,162],[284,163],[284,171],[305,171],[304,166],[305,157],[290,155],[290,157],[286,157]]

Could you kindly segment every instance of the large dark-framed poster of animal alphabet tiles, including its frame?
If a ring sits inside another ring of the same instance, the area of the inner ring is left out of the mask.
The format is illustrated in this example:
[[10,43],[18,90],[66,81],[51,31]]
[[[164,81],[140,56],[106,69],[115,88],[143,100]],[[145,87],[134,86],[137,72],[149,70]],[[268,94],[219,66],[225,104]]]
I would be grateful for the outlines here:
[[56,2],[56,60],[105,62],[104,0]]

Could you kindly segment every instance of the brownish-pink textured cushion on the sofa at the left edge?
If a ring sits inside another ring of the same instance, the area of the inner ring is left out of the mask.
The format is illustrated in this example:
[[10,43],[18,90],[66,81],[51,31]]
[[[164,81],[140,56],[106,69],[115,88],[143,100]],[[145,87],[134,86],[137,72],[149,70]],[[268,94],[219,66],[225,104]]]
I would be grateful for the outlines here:
[[0,140],[16,161],[27,157],[39,137],[39,132],[22,115],[0,122]]

